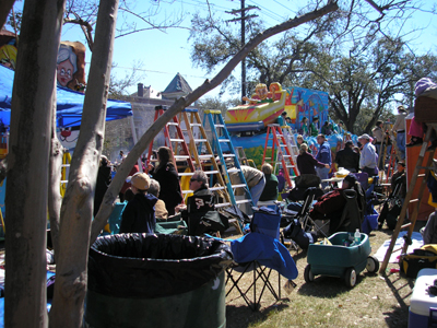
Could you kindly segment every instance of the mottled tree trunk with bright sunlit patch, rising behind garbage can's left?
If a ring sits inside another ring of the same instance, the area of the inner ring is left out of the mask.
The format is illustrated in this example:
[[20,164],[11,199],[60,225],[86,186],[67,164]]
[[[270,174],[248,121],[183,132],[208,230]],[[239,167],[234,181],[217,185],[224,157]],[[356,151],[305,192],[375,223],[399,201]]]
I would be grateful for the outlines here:
[[61,207],[60,248],[50,327],[81,327],[94,190],[109,90],[118,0],[101,1],[81,132]]

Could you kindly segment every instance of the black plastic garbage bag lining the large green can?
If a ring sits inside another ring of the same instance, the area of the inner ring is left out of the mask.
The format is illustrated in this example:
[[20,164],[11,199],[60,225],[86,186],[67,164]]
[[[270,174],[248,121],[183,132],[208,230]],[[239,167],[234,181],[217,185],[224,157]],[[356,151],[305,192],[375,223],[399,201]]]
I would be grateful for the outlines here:
[[229,246],[213,238],[104,236],[90,249],[88,290],[129,298],[176,295],[215,279],[232,260]]

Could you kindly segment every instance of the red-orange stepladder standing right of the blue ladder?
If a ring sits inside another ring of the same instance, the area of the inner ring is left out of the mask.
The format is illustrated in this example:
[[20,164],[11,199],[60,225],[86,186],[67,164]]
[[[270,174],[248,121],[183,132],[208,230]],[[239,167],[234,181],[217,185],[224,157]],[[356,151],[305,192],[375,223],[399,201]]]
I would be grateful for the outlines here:
[[[272,133],[272,137],[270,137],[270,132]],[[272,140],[272,147],[269,147],[269,140]],[[293,184],[292,184],[292,178],[290,176],[290,168],[292,168],[294,175],[297,176],[298,175],[297,167],[293,162],[293,156],[288,150],[284,134],[282,134],[279,125],[268,125],[267,127],[265,144],[262,154],[262,164],[264,164],[265,162],[265,152],[268,148],[272,150],[271,163],[272,166],[274,167],[274,173],[276,171],[277,164],[282,165],[285,180],[288,184],[288,187],[292,188]],[[276,160],[274,159],[275,149],[277,151]]]

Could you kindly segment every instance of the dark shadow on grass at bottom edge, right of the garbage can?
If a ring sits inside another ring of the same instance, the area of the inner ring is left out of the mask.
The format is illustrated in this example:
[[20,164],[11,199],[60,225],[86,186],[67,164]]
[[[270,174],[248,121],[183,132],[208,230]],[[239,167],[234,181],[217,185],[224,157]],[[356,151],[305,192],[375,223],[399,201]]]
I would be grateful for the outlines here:
[[[281,298],[287,301],[288,298]],[[226,327],[227,328],[247,328],[255,323],[263,323],[269,319],[273,313],[288,308],[287,304],[274,303],[264,307],[260,312],[252,312],[248,306],[226,305]]]

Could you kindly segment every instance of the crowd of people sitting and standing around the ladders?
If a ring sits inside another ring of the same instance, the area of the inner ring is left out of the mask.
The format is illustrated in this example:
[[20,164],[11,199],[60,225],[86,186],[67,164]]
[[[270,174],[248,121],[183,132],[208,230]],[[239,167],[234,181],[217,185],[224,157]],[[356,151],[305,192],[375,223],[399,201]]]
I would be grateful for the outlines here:
[[[405,110],[402,106],[398,110],[399,116],[392,129],[395,132],[397,142],[400,143],[404,142],[405,139],[403,120]],[[335,125],[333,121],[327,120],[319,129],[318,121],[319,118],[317,116],[312,117],[311,122],[306,117],[302,119],[300,133],[296,138],[299,149],[296,165],[300,175],[317,176],[320,178],[321,188],[326,189],[331,184],[330,177],[332,176],[333,167],[335,167],[334,169],[344,168],[350,173],[363,172],[367,173],[368,176],[378,175],[378,171],[383,169],[385,160],[379,161],[378,166],[379,154],[382,151],[382,145],[386,147],[387,152],[387,149],[391,147],[391,142],[390,138],[386,138],[389,131],[385,131],[381,120],[376,122],[371,131],[373,138],[364,133],[358,137],[357,145],[352,140],[347,140],[344,143],[344,148],[340,149],[336,153],[332,153],[327,136],[339,132],[344,133],[343,122],[339,121]],[[291,119],[286,116],[285,112],[280,116],[279,124],[281,126],[291,125]],[[306,137],[316,137],[318,148],[311,150],[305,140]],[[415,143],[415,140],[412,140],[411,143]],[[406,147],[411,145],[406,144]],[[398,149],[402,151],[402,147],[399,147],[399,144]],[[126,155],[120,151],[117,160],[122,162],[125,157]],[[155,152],[155,157],[156,165],[147,162],[140,169],[138,164],[135,164],[129,174],[130,177],[119,192],[120,201],[128,201],[122,215],[120,232],[150,233],[154,231],[156,219],[166,220],[175,215],[181,215],[182,220],[189,223],[189,218],[196,216],[194,213],[205,213],[214,209],[212,206],[214,201],[212,198],[213,194],[209,190],[209,181],[204,172],[197,171],[193,173],[189,183],[189,188],[193,191],[193,195],[186,199],[185,203],[188,206],[185,206],[178,168],[173,164],[172,150],[167,147],[161,147]],[[404,157],[404,154],[401,154],[402,157]],[[105,156],[102,156],[95,194],[94,215],[96,215],[99,204],[103,201],[103,195],[110,183],[110,167],[108,162]],[[333,163],[335,164],[334,166],[332,165]],[[399,162],[397,174],[403,174],[402,167],[404,167],[404,163]],[[146,173],[143,173],[144,171]],[[275,201],[279,199],[280,190],[283,186],[281,179],[284,178],[281,174],[276,176],[270,164],[264,163],[261,169],[241,165],[241,173],[246,179],[253,204],[257,204],[259,201]],[[237,173],[229,174],[229,178],[233,185],[241,184],[239,174]],[[343,189],[347,189],[347,186],[346,181],[343,184]],[[245,192],[241,189],[236,189],[235,191],[236,196]],[[336,194],[340,195],[342,192],[336,191]],[[330,197],[336,194],[327,196],[327,198],[330,199]],[[142,220],[142,222],[137,222],[138,220]]]

